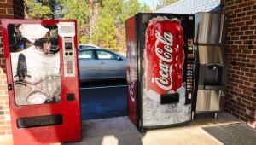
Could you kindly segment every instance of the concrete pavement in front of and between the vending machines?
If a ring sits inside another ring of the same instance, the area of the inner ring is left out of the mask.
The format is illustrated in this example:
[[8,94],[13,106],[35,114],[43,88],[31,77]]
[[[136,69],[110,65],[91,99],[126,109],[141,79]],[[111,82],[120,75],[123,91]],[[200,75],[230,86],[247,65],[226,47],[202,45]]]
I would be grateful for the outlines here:
[[[229,125],[241,122],[228,113],[219,113],[214,119],[211,115],[196,116],[189,125],[166,129],[151,130],[145,133],[137,131],[128,117],[93,119],[83,121],[82,142],[69,145],[205,145],[222,144],[201,127]],[[0,144],[12,144],[11,136],[0,136]]]

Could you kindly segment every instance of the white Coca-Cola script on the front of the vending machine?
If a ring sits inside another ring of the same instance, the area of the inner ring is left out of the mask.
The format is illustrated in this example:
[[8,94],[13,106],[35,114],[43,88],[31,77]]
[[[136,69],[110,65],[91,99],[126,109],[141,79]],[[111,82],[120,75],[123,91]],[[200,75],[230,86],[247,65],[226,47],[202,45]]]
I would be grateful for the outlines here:
[[[155,32],[155,54],[159,57],[159,67],[160,67],[160,77],[154,78],[155,83],[163,90],[172,89],[172,42],[173,37],[171,32],[164,32],[164,35],[161,36],[160,32],[156,30]],[[163,47],[160,48],[159,44],[163,44]]]

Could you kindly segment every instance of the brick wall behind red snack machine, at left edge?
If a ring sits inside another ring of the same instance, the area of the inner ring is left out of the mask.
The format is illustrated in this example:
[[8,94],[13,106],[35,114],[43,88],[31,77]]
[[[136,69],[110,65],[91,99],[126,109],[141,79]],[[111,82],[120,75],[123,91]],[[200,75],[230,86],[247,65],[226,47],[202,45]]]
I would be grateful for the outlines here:
[[[23,0],[0,0],[0,19],[23,17]],[[0,20],[0,135],[11,134],[9,99],[5,71],[6,69],[3,56],[2,26]]]

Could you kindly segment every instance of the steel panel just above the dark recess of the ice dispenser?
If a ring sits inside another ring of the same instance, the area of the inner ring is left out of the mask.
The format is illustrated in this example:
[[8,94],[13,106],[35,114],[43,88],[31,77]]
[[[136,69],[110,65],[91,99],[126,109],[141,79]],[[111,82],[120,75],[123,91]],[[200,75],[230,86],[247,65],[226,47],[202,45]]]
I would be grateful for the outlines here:
[[224,64],[224,49],[220,46],[198,46],[200,64]]

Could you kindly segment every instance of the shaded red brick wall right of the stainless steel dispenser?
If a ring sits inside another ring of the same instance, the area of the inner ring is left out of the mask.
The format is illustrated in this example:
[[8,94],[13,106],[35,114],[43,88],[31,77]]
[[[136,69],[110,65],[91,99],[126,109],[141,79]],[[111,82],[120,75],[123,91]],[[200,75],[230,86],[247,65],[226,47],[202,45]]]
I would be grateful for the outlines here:
[[224,0],[230,14],[225,110],[256,125],[256,0]]

